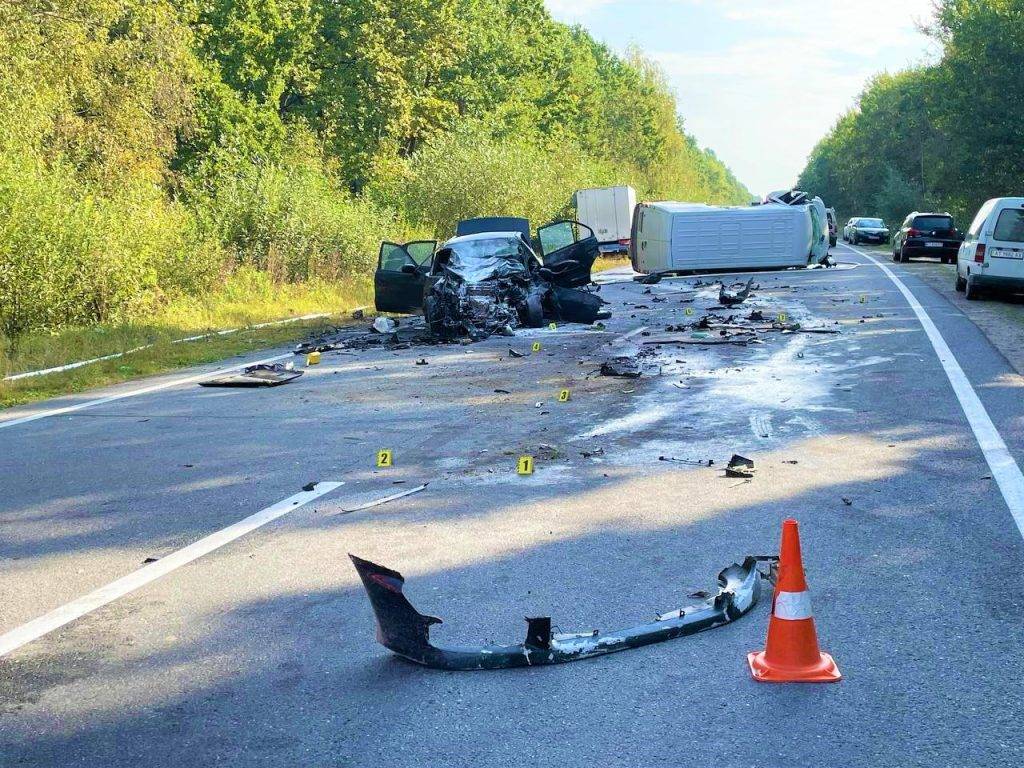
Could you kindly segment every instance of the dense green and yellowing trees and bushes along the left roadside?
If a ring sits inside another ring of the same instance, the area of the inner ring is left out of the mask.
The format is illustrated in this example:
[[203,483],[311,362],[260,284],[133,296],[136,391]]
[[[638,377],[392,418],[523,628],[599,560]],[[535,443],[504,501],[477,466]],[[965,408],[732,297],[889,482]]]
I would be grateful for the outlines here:
[[0,0],[0,335],[142,316],[240,265],[580,186],[746,199],[659,73],[542,0]]

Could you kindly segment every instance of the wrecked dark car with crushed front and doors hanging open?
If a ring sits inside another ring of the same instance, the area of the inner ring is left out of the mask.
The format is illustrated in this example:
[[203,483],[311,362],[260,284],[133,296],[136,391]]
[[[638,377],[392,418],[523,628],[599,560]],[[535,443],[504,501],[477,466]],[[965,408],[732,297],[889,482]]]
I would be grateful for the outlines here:
[[598,255],[593,231],[555,221],[529,240],[519,218],[469,219],[436,248],[433,241],[381,245],[374,278],[379,311],[422,311],[440,338],[483,339],[545,319],[594,323],[607,316],[599,296],[580,290],[591,282]]

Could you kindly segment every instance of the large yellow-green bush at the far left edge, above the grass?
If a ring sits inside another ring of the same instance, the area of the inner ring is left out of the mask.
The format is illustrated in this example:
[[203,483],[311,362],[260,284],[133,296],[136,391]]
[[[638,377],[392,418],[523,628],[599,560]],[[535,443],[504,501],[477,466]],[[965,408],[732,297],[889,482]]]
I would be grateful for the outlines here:
[[151,311],[206,290],[219,264],[189,217],[140,183],[103,195],[73,169],[0,153],[0,332],[54,330]]

